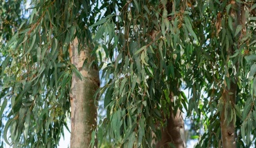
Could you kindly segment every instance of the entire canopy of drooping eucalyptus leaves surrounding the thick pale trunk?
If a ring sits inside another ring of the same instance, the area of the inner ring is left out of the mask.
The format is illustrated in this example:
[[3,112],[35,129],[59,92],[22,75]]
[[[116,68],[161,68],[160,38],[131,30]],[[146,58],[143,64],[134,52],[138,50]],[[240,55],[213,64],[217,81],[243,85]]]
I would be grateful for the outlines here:
[[255,1],[33,0],[31,7],[3,48],[8,144],[57,147],[72,74],[82,78],[68,51],[77,38],[79,49],[93,45],[95,60],[84,65],[107,78],[95,94],[107,109],[92,135],[98,146],[107,136],[115,146],[152,147],[170,109],[202,129],[196,147],[254,145]]

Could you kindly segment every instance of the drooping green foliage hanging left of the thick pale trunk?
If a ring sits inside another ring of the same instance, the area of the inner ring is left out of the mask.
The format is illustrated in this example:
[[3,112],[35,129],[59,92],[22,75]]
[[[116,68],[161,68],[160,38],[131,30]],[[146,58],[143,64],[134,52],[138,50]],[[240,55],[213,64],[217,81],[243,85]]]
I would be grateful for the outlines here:
[[[32,1],[32,12],[7,43],[3,89],[11,103],[3,131],[14,147],[57,147],[70,116],[72,73],[68,47],[74,36],[85,43],[88,1]],[[89,17],[89,16],[88,16]],[[3,108],[4,106],[2,106]],[[67,127],[66,127],[67,128]],[[8,135],[10,131],[10,138]]]

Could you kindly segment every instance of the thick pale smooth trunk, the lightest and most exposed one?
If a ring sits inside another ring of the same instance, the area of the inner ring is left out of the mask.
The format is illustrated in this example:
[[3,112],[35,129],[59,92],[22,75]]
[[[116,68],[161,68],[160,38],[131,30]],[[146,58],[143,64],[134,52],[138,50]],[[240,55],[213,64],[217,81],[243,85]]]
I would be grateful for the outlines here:
[[[100,87],[97,67],[90,67],[91,48],[86,46],[78,53],[78,41],[74,39],[70,47],[71,63],[84,78],[80,80],[73,73],[71,85],[71,148],[91,147],[91,134],[97,125],[97,101],[95,91]],[[88,59],[85,67],[84,61]],[[95,140],[94,147],[97,147]]]

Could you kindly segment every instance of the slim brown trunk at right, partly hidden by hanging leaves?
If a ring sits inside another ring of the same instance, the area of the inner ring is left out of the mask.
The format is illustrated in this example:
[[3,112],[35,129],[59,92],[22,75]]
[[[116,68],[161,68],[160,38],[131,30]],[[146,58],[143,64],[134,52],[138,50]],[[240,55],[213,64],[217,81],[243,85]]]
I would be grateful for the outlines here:
[[[238,3],[233,3],[232,4],[232,9],[230,10],[230,16],[233,19],[232,22],[232,28],[233,30],[236,30],[237,25],[240,23],[244,25],[245,20],[244,20],[244,7],[241,7],[240,4]],[[235,41],[235,40],[234,40]],[[234,47],[230,47],[229,51],[229,56],[232,56],[235,54]],[[229,59],[228,59],[229,60]],[[228,63],[227,60],[227,63]],[[234,64],[234,63],[233,63]],[[237,64],[235,65],[235,70],[238,70]],[[236,94],[237,94],[237,78],[235,74],[237,72],[232,72],[232,75],[229,76],[229,74],[226,76],[228,81],[230,81],[230,87],[226,87],[223,90],[223,108],[221,111],[221,142],[222,142],[222,147],[223,148],[230,148],[230,147],[236,147],[236,131],[235,131],[235,122],[234,119],[228,120],[232,116],[231,114],[231,109],[234,107],[236,103]],[[232,81],[233,78],[233,81]],[[234,81],[235,78],[235,81]]]

